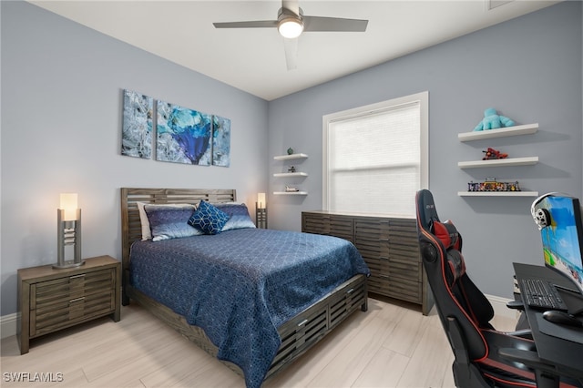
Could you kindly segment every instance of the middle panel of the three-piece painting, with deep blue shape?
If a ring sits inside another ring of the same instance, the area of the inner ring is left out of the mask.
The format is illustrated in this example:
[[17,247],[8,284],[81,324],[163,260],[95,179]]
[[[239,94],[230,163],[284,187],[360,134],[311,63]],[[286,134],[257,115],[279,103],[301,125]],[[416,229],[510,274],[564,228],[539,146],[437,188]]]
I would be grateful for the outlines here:
[[212,116],[158,101],[156,158],[210,166]]

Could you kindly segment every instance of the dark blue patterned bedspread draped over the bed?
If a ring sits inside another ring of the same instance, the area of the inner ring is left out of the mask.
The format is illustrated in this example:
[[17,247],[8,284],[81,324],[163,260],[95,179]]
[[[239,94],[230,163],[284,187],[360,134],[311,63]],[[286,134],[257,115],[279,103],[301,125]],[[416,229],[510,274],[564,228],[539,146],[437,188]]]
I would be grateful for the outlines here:
[[132,285],[202,328],[250,388],[280,347],[281,323],[357,273],[369,270],[350,242],[292,231],[229,230],[131,249]]

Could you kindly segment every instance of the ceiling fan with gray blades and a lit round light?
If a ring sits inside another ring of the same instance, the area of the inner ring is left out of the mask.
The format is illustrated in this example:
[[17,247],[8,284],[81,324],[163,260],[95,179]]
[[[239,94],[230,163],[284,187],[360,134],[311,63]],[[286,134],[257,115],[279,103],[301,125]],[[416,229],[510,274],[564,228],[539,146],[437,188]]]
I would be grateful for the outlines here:
[[292,70],[297,67],[297,37],[302,35],[302,32],[364,32],[368,20],[303,15],[297,0],[281,0],[277,20],[213,23],[213,25],[215,28],[277,28],[284,37],[288,70]]

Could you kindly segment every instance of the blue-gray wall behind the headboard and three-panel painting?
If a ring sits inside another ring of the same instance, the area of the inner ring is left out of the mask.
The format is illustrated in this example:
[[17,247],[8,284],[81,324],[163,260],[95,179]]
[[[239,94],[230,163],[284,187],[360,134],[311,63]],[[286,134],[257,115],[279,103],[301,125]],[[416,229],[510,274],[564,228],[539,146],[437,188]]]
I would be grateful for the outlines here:
[[[267,188],[268,103],[24,2],[2,6],[2,303],[16,270],[56,262],[60,192],[77,192],[83,254],[120,259],[119,188]],[[122,89],[231,120],[230,168],[120,155]]]

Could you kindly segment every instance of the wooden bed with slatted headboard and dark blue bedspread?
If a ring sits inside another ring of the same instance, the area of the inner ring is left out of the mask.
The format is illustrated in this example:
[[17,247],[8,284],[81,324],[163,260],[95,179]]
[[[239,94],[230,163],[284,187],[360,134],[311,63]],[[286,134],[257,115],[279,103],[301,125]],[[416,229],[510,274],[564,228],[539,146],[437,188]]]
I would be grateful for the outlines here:
[[[230,206],[236,200],[236,192],[233,189],[121,189],[124,305],[130,300],[138,301],[239,373],[250,388],[261,386],[264,380],[322,340],[353,311],[367,311],[368,269],[358,260],[360,254],[353,245],[342,239],[235,228],[214,235],[141,241],[143,230],[138,204],[142,209],[144,206],[149,209],[157,208],[149,205],[194,205],[201,200],[205,205]],[[273,243],[270,245],[268,241]],[[221,253],[230,254],[219,254],[216,249],[219,246]],[[210,250],[210,254],[203,258],[202,250]],[[322,257],[308,260],[312,251],[322,251]],[[186,260],[186,257],[196,257],[196,260]],[[259,265],[251,266],[251,261]],[[155,267],[159,265],[162,267]],[[274,269],[268,271],[267,267]],[[294,275],[292,267],[300,268],[301,275]],[[205,277],[195,278],[196,273]],[[308,273],[316,274],[316,280],[304,279]],[[335,278],[329,279],[332,277]],[[322,283],[325,291],[314,298],[315,290],[305,290],[307,282]],[[211,287],[217,290],[211,291]],[[235,316],[235,313],[242,315]],[[246,327],[252,328],[251,333],[241,335]]]

